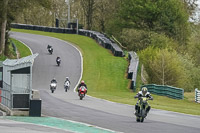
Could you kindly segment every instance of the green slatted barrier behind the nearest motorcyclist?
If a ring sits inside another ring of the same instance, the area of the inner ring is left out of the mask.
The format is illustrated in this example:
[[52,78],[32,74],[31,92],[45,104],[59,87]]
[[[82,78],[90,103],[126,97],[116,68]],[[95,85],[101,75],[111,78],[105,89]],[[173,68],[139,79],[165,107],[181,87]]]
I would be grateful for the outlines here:
[[167,85],[155,85],[155,84],[143,85],[142,87],[147,87],[148,91],[153,94],[167,96],[173,99],[184,98],[184,90],[181,88],[176,88]]

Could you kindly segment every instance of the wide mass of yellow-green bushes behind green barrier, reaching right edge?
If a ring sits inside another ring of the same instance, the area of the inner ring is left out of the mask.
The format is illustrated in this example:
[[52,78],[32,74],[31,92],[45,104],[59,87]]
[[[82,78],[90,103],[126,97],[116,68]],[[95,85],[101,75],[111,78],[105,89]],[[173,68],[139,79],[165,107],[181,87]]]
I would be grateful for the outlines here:
[[149,84],[170,85],[192,91],[200,84],[200,69],[188,54],[179,54],[171,48],[148,47],[139,54]]

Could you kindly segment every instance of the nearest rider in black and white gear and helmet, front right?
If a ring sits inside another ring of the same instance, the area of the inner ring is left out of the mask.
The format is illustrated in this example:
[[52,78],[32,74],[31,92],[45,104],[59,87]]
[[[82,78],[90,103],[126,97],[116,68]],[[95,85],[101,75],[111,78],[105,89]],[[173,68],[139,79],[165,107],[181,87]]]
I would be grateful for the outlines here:
[[[138,98],[138,101],[135,105],[135,114],[137,114],[137,110],[138,110],[138,103],[139,103],[139,100],[140,100],[140,97],[146,97],[146,98],[149,98],[149,100],[153,100],[153,97],[151,96],[150,92],[148,92],[148,89],[147,87],[142,87],[142,90],[139,91],[136,96],[134,96],[134,98]],[[148,103],[147,103],[148,104]],[[151,109],[151,106],[148,104],[147,105],[148,107],[146,108],[146,113],[148,113]]]

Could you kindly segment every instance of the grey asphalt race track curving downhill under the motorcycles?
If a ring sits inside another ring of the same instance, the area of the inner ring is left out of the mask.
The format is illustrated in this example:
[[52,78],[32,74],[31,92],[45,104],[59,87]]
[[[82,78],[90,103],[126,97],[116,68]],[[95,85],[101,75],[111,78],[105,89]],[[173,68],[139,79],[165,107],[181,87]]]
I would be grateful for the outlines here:
[[[42,114],[67,120],[83,122],[116,132],[125,133],[199,133],[200,116],[185,115],[152,109],[144,120],[137,123],[131,105],[113,103],[86,96],[79,100],[74,87],[81,77],[81,55],[67,42],[40,35],[12,32],[11,37],[27,44],[33,53],[39,53],[33,65],[33,89],[40,90]],[[50,55],[47,45],[53,46]],[[61,66],[56,66],[56,57]],[[63,88],[65,77],[71,80],[69,92]],[[54,93],[49,89],[55,77],[58,87]],[[86,81],[87,83],[87,81]]]

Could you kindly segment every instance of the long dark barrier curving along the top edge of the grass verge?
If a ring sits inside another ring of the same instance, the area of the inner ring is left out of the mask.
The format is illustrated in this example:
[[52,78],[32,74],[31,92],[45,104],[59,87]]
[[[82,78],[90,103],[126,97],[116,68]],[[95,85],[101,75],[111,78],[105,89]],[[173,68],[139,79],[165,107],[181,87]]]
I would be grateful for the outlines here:
[[[16,23],[12,23],[11,27],[17,28],[17,29],[76,34],[76,29],[69,29],[69,28],[56,28],[56,27],[46,27],[46,26],[16,24]],[[110,49],[112,51],[112,53],[114,54],[114,56],[119,56],[119,57],[124,56],[123,50],[116,43],[114,43],[114,41],[107,38],[104,34],[96,32],[96,31],[83,30],[83,29],[80,29],[78,31],[78,33],[79,33],[79,35],[84,35],[84,36],[93,38],[104,48]]]

